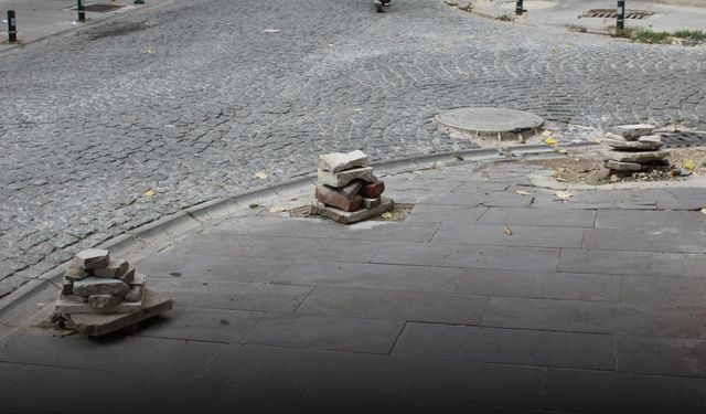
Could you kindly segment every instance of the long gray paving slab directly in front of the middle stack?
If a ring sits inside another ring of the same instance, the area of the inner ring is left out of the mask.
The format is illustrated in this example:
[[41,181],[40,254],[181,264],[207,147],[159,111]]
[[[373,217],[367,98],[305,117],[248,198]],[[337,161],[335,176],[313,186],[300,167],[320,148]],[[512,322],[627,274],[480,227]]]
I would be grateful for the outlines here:
[[436,223],[368,221],[342,226],[321,219],[257,217],[228,220],[210,229],[208,232],[280,237],[428,242],[437,227]]

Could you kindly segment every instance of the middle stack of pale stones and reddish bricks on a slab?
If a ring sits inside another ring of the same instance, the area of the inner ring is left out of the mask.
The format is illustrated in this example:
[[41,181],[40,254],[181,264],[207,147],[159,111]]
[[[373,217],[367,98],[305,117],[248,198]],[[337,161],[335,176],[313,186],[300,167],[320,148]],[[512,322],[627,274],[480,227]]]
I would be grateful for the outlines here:
[[314,213],[339,223],[356,223],[394,209],[393,200],[382,197],[385,183],[373,174],[367,156],[355,150],[319,157],[314,197],[321,203]]

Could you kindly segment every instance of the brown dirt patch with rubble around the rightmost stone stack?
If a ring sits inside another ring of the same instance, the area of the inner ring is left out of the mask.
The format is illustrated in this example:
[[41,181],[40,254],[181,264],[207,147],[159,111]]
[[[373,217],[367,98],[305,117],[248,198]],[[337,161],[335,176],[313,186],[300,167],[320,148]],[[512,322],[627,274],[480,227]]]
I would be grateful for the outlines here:
[[554,171],[560,182],[601,185],[616,182],[683,181],[706,174],[705,148],[671,149],[671,166],[654,167],[649,171],[611,173],[603,167],[603,158],[595,151],[567,151],[566,157],[523,161]]

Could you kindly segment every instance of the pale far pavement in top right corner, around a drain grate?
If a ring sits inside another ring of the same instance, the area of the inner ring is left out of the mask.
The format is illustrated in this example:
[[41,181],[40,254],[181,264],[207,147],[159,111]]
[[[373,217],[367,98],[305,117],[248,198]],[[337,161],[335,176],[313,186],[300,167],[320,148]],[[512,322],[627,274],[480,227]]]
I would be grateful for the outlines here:
[[[589,31],[608,31],[616,26],[614,18],[589,18],[584,15],[592,9],[616,9],[616,1],[601,0],[525,0],[527,12],[515,15],[516,2],[512,0],[478,0],[471,2],[473,12],[500,17],[503,14],[518,22],[552,26],[585,26]],[[706,31],[706,8],[661,4],[648,1],[627,1],[627,11],[648,11],[653,14],[643,19],[625,19],[625,28],[645,28],[661,32],[675,30]]]

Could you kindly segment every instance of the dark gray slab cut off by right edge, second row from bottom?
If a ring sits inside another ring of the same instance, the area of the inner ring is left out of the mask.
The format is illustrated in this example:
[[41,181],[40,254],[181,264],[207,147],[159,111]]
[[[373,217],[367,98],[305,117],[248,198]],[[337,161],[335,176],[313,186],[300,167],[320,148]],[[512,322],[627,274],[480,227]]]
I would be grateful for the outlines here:
[[706,379],[706,341],[616,336],[616,370]]

